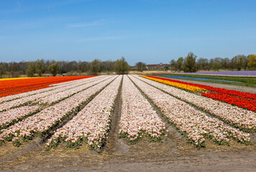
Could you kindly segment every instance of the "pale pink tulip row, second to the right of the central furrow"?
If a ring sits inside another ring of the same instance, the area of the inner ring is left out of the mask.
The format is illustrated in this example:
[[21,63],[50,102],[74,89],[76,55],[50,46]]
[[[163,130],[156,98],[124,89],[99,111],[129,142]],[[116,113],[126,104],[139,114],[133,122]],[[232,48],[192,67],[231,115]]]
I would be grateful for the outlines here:
[[132,80],[162,110],[170,123],[173,123],[196,146],[204,147],[206,138],[219,144],[229,144],[229,138],[234,138],[244,144],[251,143],[250,134],[225,125],[221,120],[209,117],[206,113],[142,82],[137,77],[132,77]]

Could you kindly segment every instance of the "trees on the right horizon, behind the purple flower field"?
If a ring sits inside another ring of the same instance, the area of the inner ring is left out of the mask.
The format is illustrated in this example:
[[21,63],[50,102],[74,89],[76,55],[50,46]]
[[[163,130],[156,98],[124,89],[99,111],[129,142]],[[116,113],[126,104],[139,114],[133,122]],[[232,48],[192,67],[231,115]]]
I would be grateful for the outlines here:
[[189,52],[188,55],[183,58],[179,57],[177,60],[170,60],[170,70],[184,71],[184,72],[196,72],[198,70],[256,70],[256,54],[250,55],[236,55],[232,59],[215,57],[211,59],[198,58]]

